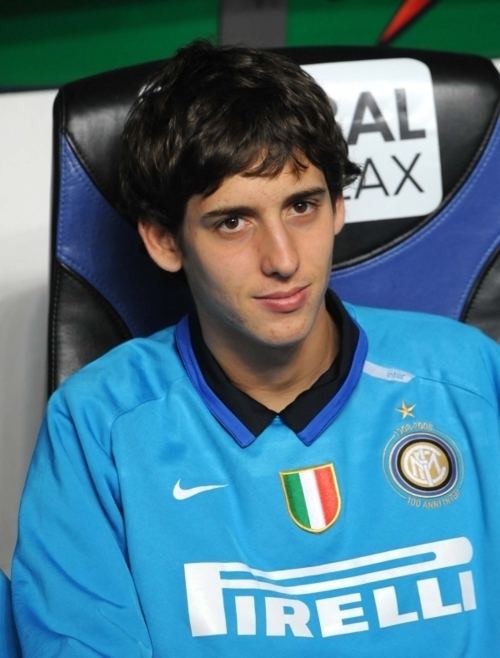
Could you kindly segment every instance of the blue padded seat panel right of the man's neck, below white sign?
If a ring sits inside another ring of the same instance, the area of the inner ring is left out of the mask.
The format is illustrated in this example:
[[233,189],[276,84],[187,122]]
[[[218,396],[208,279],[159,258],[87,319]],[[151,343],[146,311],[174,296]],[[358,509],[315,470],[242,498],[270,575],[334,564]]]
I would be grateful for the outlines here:
[[392,249],[335,271],[333,288],[356,304],[460,318],[477,277],[500,245],[499,163],[500,122],[450,203]]

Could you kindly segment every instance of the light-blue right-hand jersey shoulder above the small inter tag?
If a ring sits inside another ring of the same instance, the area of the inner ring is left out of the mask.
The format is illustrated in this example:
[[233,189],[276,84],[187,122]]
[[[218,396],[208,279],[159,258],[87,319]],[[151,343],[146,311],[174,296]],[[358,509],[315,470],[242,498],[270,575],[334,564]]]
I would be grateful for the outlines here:
[[500,346],[482,331],[428,313],[347,304],[368,338],[368,359],[471,392],[498,404]]

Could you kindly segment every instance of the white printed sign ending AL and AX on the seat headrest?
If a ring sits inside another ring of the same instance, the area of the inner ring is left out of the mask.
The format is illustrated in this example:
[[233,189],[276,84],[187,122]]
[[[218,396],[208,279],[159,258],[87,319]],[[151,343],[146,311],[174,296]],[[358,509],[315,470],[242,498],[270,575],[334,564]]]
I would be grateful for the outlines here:
[[440,204],[443,190],[432,78],[408,58],[303,67],[328,94],[360,165],[346,190],[346,218],[366,222],[416,217]]

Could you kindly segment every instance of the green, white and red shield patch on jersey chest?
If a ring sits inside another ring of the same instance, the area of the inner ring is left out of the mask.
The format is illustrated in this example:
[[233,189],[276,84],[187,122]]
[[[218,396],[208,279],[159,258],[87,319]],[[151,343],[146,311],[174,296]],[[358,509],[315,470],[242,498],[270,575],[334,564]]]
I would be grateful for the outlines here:
[[340,513],[340,494],[333,464],[280,472],[290,516],[308,532],[323,532]]

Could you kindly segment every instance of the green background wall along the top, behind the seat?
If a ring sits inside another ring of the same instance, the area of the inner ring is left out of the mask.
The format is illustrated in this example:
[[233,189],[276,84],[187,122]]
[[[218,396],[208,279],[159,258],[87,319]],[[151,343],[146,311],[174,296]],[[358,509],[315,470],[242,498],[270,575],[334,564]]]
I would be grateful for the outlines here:
[[[375,44],[399,0],[289,0],[287,45]],[[218,0],[1,0],[0,86],[59,86],[217,41]],[[440,0],[393,42],[500,56],[499,0]]]

